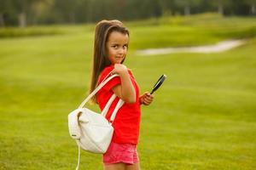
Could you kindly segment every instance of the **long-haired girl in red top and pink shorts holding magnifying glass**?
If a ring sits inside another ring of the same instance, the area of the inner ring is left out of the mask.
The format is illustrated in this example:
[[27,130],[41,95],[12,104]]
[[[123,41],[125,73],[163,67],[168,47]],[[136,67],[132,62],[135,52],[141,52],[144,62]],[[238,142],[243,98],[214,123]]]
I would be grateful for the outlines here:
[[[113,122],[113,139],[103,155],[105,170],[139,170],[137,142],[141,119],[140,105],[150,105],[154,96],[145,92],[139,96],[139,88],[132,73],[123,62],[129,43],[129,31],[119,20],[102,20],[96,25],[93,70],[90,85],[92,92],[96,85],[112,73],[114,77],[93,98],[101,110],[112,94],[123,99]],[[114,99],[106,118],[109,120],[118,98]]]

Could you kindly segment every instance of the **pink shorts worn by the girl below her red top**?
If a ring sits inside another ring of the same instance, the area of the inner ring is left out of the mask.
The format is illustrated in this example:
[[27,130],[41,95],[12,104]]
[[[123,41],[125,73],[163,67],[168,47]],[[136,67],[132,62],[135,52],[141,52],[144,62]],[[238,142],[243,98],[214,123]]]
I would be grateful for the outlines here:
[[119,162],[132,165],[138,161],[136,144],[117,144],[111,142],[107,152],[103,155],[103,163],[105,165]]

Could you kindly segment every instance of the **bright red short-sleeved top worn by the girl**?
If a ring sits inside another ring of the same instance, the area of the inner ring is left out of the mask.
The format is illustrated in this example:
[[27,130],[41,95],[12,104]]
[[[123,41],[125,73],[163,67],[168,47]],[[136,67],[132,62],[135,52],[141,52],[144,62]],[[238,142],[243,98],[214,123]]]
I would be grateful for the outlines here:
[[[99,79],[98,82],[102,82],[102,80],[108,76],[108,73],[113,70],[113,65],[106,67]],[[115,119],[113,121],[113,139],[112,141],[119,144],[137,144],[139,137],[139,128],[141,122],[141,107],[139,102],[139,88],[137,86],[137,82],[130,70],[128,70],[131,82],[136,92],[136,102],[133,104],[124,104],[120,107]],[[108,99],[113,94],[112,88],[114,86],[120,85],[121,81],[119,77],[113,77],[97,94],[96,99],[99,104],[101,110],[103,110],[104,106],[107,104]],[[118,102],[118,98],[113,100],[112,105],[110,106],[106,118],[110,119],[110,116],[115,108],[115,105]]]

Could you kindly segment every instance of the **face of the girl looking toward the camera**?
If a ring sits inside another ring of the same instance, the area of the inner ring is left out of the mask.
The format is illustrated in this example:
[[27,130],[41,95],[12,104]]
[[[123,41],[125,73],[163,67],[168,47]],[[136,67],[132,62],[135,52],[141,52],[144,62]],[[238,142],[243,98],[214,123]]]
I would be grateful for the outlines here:
[[120,64],[127,54],[129,36],[119,31],[113,31],[108,35],[107,54],[111,63]]

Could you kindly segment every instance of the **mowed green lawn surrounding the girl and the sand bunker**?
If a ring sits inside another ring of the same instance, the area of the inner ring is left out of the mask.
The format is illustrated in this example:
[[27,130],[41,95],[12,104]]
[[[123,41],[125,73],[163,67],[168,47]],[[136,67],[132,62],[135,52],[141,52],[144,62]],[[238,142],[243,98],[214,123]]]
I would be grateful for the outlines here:
[[[154,103],[142,107],[142,169],[256,169],[256,18],[205,14],[126,25],[125,65],[141,93],[167,75]],[[0,37],[1,170],[75,169],[67,115],[87,95],[94,25],[31,28],[49,29],[61,34]],[[235,38],[247,43],[218,54],[135,53]],[[82,152],[80,169],[102,169],[102,156]]]

